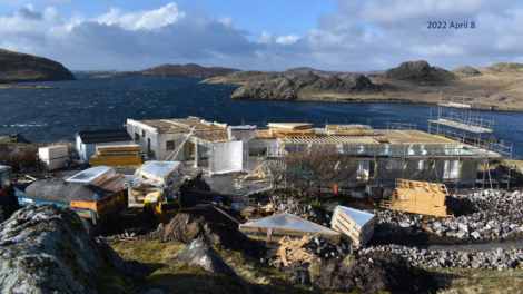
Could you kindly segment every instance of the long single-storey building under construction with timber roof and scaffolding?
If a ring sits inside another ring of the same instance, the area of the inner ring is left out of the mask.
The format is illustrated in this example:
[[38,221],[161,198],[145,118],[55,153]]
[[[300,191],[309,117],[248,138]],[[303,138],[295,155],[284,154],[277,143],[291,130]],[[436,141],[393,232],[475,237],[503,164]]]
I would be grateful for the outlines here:
[[[197,117],[127,120],[127,130],[150,159],[194,160],[210,175],[250,171],[262,163],[290,153],[333,148],[354,156],[363,183],[391,185],[396,178],[471,185],[480,164],[507,156],[492,140],[471,140],[457,130],[492,134],[485,121],[430,120],[428,133],[416,129],[373,129],[367,125],[272,122],[227,126]],[[490,128],[489,128],[490,126]],[[452,131],[451,131],[452,130]]]

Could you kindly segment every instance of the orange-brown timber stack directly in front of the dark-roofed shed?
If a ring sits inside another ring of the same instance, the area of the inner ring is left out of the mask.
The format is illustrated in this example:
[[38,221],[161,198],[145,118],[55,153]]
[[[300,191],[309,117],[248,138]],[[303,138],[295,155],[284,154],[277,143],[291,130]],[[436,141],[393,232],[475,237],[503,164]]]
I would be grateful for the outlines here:
[[128,167],[139,166],[142,154],[139,145],[97,146],[91,166]]

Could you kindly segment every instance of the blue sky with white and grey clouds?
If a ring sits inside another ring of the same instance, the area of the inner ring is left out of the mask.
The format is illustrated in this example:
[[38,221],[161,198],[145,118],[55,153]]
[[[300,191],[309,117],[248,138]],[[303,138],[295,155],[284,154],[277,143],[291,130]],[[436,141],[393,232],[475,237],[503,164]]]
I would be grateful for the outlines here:
[[[445,29],[427,28],[433,21]],[[0,48],[72,70],[198,63],[372,71],[420,59],[485,67],[523,62],[523,2],[0,0]]]

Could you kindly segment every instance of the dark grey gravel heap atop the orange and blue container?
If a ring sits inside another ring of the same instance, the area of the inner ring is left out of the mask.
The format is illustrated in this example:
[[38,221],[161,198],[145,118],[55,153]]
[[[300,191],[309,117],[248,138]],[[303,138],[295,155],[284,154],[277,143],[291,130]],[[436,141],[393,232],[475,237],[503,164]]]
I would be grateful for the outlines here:
[[114,194],[111,190],[91,184],[40,179],[26,188],[27,194],[58,197],[79,202],[98,202]]

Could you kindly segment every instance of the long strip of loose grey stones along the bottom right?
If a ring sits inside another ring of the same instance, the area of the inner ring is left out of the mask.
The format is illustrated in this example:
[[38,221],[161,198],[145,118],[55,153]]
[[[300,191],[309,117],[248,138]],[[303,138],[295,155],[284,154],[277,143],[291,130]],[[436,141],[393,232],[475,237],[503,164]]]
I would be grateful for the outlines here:
[[414,266],[466,267],[505,271],[523,268],[523,249],[496,248],[490,252],[426,251],[401,245],[382,245],[362,248],[358,254],[384,251],[397,254]]

